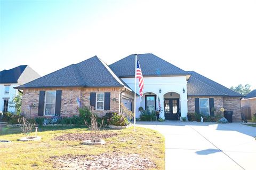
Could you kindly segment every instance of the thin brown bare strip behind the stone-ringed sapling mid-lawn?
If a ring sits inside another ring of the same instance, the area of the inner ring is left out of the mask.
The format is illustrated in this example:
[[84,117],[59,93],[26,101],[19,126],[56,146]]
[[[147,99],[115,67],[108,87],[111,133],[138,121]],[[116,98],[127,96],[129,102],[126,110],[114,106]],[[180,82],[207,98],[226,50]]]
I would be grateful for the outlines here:
[[[99,139],[106,139],[109,137],[116,136],[117,133],[101,133]],[[94,138],[94,133],[68,133],[54,138],[58,141],[85,141],[92,140]]]

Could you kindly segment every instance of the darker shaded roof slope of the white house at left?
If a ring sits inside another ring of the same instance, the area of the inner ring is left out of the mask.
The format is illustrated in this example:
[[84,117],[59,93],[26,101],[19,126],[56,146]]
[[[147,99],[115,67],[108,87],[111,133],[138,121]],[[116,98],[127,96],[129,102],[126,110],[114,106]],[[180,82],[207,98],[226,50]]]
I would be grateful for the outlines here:
[[18,79],[27,65],[18,66],[0,72],[0,83],[18,83]]

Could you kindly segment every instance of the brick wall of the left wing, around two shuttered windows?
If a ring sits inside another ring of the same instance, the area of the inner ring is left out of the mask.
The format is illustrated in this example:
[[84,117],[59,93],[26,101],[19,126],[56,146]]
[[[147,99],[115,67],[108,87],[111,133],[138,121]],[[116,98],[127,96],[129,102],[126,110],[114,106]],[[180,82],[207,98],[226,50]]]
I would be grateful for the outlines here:
[[[119,94],[120,88],[27,88],[23,90],[22,111],[29,115],[30,103],[35,103],[36,107],[31,110],[31,117],[38,117],[39,91],[61,90],[61,116],[78,115],[77,97],[80,99],[82,106],[90,106],[91,92],[110,92],[110,110],[96,111],[99,115],[104,115],[109,111],[119,111]],[[113,99],[116,101],[113,101]]]

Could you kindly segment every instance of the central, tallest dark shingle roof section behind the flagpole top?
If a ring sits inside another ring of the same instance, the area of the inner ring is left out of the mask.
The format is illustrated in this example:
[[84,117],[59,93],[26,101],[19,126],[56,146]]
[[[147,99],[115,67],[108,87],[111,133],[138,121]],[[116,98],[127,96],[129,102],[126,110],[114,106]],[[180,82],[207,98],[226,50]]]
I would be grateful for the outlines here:
[[[159,58],[154,54],[138,54],[143,76],[189,75],[188,72]],[[109,66],[119,77],[133,77],[135,70],[134,54],[126,56]]]

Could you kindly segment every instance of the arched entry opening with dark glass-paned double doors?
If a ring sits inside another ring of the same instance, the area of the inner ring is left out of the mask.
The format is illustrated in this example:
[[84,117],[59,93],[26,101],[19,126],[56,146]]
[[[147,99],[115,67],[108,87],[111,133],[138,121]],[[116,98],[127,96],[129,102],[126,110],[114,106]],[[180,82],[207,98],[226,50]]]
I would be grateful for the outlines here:
[[164,116],[166,120],[180,118],[180,95],[175,92],[164,94]]

